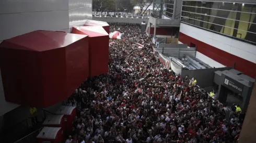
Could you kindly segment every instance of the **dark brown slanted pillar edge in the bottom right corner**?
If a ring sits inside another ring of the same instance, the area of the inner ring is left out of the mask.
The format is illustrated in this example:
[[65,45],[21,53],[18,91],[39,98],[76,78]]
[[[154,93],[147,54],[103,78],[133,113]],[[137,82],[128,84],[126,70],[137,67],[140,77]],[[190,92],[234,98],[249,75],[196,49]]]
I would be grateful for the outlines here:
[[254,84],[254,89],[252,90],[250,103],[247,108],[246,117],[243,121],[242,130],[239,136],[238,143],[243,142],[256,142],[256,84]]

